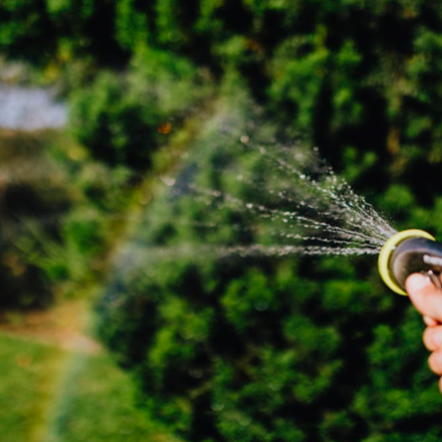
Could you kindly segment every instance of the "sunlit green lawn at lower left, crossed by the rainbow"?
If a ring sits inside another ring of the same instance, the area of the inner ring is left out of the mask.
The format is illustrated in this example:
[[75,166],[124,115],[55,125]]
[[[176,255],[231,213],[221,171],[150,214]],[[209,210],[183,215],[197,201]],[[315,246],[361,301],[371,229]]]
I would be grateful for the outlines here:
[[0,334],[2,442],[171,442],[133,407],[110,356]]

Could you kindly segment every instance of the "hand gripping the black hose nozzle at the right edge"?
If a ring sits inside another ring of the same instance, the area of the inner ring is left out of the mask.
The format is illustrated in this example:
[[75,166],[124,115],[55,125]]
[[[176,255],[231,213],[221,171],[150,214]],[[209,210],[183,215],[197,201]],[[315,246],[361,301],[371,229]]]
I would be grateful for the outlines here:
[[[442,291],[430,278],[415,273],[408,277],[406,288],[415,308],[423,315],[427,328],[423,332],[423,344],[431,351],[428,364],[431,371],[442,376]],[[442,392],[442,377],[439,379]]]

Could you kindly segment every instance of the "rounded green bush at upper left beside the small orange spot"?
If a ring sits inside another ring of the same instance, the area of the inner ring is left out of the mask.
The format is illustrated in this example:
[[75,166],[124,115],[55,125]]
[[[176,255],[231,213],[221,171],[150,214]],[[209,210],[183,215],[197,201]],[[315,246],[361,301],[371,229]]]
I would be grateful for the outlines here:
[[144,171],[204,94],[193,65],[143,49],[127,75],[102,72],[72,95],[71,125],[96,159]]

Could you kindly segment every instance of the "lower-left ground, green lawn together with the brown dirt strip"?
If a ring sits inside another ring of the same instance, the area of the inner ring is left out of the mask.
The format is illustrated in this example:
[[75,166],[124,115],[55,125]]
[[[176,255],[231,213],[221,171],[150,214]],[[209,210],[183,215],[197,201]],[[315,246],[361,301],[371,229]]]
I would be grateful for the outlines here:
[[134,407],[135,388],[88,334],[88,304],[0,322],[2,442],[171,442]]

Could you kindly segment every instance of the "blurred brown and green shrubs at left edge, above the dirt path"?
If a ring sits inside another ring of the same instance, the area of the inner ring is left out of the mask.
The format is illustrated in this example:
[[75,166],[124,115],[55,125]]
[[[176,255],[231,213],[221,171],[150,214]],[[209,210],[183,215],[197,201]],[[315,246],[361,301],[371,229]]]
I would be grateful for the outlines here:
[[85,296],[126,223],[129,172],[110,170],[67,133],[50,130],[0,130],[0,158],[0,306],[43,308],[61,295]]

